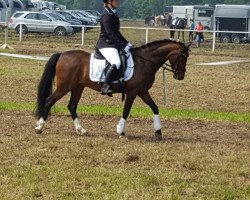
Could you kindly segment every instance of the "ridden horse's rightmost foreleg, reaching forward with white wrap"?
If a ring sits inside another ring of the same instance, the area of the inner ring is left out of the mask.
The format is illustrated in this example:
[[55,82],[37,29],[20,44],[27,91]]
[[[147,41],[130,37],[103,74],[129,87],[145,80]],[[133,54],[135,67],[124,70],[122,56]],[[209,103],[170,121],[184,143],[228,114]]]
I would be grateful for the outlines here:
[[155,104],[154,100],[151,98],[149,92],[139,94],[139,97],[151,108],[153,111],[153,122],[154,122],[154,129],[155,129],[155,137],[158,140],[162,139],[161,134],[161,121],[159,116],[159,109],[158,106]]

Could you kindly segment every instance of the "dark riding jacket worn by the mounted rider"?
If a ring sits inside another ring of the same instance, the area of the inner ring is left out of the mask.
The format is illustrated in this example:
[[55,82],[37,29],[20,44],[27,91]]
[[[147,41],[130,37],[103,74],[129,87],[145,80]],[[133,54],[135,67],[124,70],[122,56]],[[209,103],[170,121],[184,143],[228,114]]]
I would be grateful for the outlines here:
[[114,13],[109,7],[105,7],[100,19],[101,32],[96,44],[97,49],[116,48],[124,49],[128,41],[120,33],[120,20],[117,13]]

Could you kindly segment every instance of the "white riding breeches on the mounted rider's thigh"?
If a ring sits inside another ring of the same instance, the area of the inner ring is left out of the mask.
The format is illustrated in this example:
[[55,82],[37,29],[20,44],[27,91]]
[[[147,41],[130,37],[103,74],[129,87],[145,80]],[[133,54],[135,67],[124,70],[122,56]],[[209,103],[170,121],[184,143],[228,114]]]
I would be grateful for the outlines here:
[[109,47],[99,49],[99,51],[111,65],[116,65],[117,69],[120,68],[121,60],[117,49]]

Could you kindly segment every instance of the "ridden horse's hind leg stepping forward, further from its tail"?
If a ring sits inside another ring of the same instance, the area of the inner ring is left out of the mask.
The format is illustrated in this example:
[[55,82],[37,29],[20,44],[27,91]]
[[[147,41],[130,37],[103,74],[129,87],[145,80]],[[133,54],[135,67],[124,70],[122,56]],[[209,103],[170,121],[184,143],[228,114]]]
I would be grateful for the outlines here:
[[74,125],[75,125],[75,129],[76,132],[80,135],[86,133],[87,131],[82,127],[78,116],[76,114],[76,110],[77,110],[77,105],[78,102],[81,98],[82,92],[83,92],[84,87],[81,85],[76,86],[74,89],[71,90],[71,97],[70,97],[70,101],[68,104],[68,109],[70,111],[71,117],[74,121]]

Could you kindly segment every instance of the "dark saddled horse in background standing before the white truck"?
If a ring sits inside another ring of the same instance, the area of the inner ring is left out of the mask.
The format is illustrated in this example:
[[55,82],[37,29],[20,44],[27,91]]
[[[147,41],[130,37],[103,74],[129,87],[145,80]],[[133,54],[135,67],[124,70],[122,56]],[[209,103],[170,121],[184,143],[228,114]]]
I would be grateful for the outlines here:
[[[186,18],[172,18],[170,14],[167,14],[165,17],[166,24],[170,29],[185,29],[187,26],[187,19]],[[182,33],[182,41],[185,41],[184,38],[184,31],[178,31],[178,40],[180,38],[180,32]],[[174,39],[175,30],[170,30],[170,38]]]

